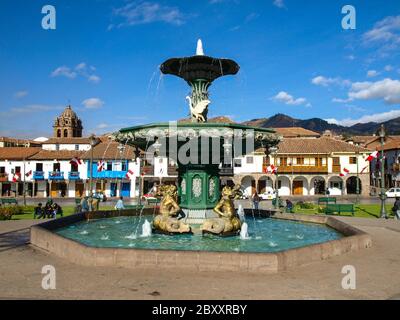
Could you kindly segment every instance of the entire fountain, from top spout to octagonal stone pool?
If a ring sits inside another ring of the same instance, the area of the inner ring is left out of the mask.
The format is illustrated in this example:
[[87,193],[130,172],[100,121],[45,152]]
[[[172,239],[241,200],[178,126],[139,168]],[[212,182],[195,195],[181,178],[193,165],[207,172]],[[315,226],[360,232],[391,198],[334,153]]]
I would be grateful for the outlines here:
[[279,137],[271,129],[207,122],[209,87],[239,66],[206,56],[200,40],[196,55],[169,59],[160,69],[191,87],[190,121],[124,128],[112,136],[144,150],[148,162],[163,156],[178,164],[177,184],[158,188],[159,209],[91,212],[89,223],[84,213],[54,219],[32,226],[32,245],[86,266],[257,273],[371,246],[368,234],[331,216],[260,209],[256,217],[240,205],[236,211],[240,186],[221,186],[222,165],[233,175],[233,158],[267,151]]

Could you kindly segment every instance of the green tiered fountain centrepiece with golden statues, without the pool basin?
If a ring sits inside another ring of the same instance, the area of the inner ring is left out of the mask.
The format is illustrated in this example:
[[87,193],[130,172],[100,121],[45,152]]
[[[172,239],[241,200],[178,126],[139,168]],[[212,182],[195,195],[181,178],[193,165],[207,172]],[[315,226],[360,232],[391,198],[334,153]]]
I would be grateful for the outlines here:
[[[237,234],[240,223],[232,205],[237,189],[225,187],[221,199],[219,167],[231,165],[233,157],[257,148],[268,150],[279,138],[271,129],[207,122],[209,87],[219,77],[236,74],[239,65],[230,59],[204,55],[201,40],[196,55],[168,59],[160,70],[184,79],[191,87],[191,95],[186,97],[191,122],[130,127],[115,135],[120,143],[144,149],[147,155],[166,156],[178,164],[177,203],[173,204],[175,191],[164,190],[160,213],[165,219],[156,218],[155,231],[191,232],[193,225],[200,224],[204,232]],[[185,219],[177,220],[174,216],[180,210]],[[205,223],[205,219],[214,220]]]

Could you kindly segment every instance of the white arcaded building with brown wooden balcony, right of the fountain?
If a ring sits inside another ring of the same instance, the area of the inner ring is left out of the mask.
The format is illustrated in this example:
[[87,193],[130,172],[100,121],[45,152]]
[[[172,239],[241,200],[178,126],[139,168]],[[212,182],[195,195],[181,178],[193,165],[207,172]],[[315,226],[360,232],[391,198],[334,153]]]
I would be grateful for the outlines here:
[[[368,195],[369,151],[344,141],[321,138],[284,138],[275,155],[266,156],[262,150],[234,160],[235,183],[246,193],[278,187],[279,194]],[[268,173],[273,165],[277,174]]]

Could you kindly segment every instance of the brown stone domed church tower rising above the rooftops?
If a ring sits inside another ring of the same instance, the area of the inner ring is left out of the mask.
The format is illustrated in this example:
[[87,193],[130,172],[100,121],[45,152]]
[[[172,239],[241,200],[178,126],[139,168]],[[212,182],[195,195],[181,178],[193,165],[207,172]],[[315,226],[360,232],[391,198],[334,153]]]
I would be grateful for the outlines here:
[[76,138],[82,137],[82,122],[69,105],[54,121],[54,137]]

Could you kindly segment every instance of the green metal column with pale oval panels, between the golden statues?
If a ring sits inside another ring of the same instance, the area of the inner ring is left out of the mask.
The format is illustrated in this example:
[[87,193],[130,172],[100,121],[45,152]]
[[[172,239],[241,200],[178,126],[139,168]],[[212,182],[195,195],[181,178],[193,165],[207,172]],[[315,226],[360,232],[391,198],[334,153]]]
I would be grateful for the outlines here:
[[220,198],[218,165],[179,166],[179,205],[183,209],[212,209]]

